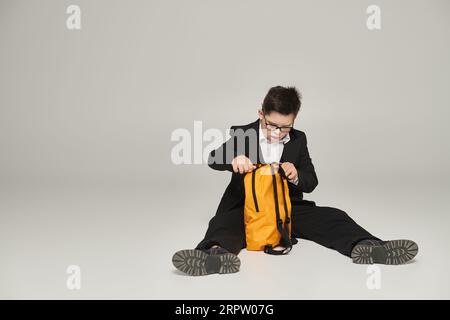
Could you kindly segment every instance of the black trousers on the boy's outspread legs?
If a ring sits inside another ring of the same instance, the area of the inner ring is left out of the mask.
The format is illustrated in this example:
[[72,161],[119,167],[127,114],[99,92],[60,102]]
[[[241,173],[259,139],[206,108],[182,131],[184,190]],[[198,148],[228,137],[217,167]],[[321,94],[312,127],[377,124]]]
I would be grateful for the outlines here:
[[[317,206],[314,201],[292,203],[292,236],[314,241],[348,257],[358,241],[381,240],[359,226],[346,212]],[[212,245],[220,245],[234,254],[246,247],[243,207],[216,214],[209,221],[205,237],[196,249]]]

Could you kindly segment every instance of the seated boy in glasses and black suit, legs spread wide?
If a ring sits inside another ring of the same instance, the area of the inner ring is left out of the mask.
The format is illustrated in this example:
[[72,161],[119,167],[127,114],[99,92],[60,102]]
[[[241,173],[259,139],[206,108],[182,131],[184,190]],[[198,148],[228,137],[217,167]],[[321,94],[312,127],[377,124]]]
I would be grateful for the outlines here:
[[403,264],[413,259],[418,246],[411,240],[383,241],[359,226],[344,211],[317,206],[303,199],[312,192],[317,175],[305,133],[293,128],[301,106],[294,87],[273,87],[264,98],[259,119],[231,127],[231,138],[209,155],[208,165],[232,172],[216,215],[195,249],[174,254],[174,266],[193,276],[239,271],[239,251],[246,247],[244,175],[255,163],[279,163],[288,178],[292,204],[292,237],[314,241],[337,250],[360,264]]

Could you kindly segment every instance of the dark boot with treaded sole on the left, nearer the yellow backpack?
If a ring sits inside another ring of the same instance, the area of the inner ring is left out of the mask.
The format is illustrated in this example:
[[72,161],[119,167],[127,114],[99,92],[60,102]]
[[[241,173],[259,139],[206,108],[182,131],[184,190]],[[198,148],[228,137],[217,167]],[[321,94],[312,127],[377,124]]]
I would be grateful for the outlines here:
[[172,257],[172,263],[175,268],[190,276],[235,273],[241,266],[241,261],[235,254],[210,255],[196,249],[176,252]]

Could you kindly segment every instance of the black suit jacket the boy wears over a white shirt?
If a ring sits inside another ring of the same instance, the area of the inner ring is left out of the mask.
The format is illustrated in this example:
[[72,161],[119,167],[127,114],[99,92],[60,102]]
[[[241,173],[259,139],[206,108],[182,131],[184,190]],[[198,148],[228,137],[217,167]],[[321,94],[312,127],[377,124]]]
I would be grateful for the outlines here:
[[[211,151],[209,154],[208,165],[212,169],[220,171],[228,170],[232,172],[231,181],[222,196],[216,214],[225,213],[236,209],[242,209],[243,211],[245,202],[244,175],[233,172],[231,160],[237,155],[245,154],[250,158],[250,160],[252,160],[253,163],[262,163],[261,150],[259,147],[259,126],[259,119],[247,125],[232,126],[230,139],[223,143],[218,149]],[[249,141],[246,141],[245,150],[238,150],[238,148],[236,148],[237,137],[233,132],[238,129],[242,129],[243,132],[246,132],[248,129],[256,130],[256,159],[252,156],[253,154],[250,153],[250,150],[252,149]],[[289,132],[289,137],[290,140],[284,145],[280,162],[291,162],[297,169],[299,178],[298,185],[288,182],[291,203],[293,205],[302,203],[315,204],[314,201],[303,199],[303,193],[312,192],[318,184],[314,165],[312,164],[308,152],[306,135],[303,131],[292,129]],[[228,146],[230,143],[233,143],[232,141],[234,141],[235,145],[232,147]],[[227,150],[232,150],[233,154],[227,155]],[[221,161],[216,160],[216,154],[223,155]]]

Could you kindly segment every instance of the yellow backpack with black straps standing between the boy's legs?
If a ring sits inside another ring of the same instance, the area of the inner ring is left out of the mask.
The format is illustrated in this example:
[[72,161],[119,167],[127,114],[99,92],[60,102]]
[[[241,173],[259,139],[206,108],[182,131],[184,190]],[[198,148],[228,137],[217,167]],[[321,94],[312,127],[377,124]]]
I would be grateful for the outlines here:
[[[247,250],[284,255],[297,243],[291,239],[291,201],[287,178],[277,163],[258,164],[244,176]],[[283,246],[283,250],[274,250]]]

